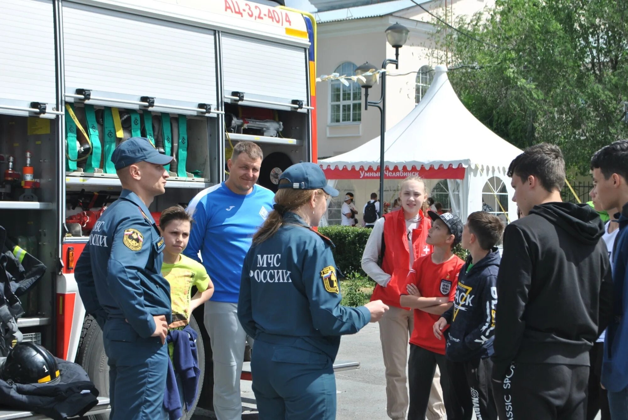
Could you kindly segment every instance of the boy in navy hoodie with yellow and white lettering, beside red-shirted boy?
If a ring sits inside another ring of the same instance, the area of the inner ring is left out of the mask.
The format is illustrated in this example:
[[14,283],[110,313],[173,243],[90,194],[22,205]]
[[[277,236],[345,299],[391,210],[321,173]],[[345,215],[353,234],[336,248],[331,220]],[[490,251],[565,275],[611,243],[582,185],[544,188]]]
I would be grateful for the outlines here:
[[434,335],[445,335],[448,359],[447,374],[463,420],[497,420],[490,371],[497,305],[499,251],[495,245],[502,239],[504,224],[494,214],[476,211],[469,214],[462,231],[462,248],[470,255],[460,270],[453,307],[434,323]]

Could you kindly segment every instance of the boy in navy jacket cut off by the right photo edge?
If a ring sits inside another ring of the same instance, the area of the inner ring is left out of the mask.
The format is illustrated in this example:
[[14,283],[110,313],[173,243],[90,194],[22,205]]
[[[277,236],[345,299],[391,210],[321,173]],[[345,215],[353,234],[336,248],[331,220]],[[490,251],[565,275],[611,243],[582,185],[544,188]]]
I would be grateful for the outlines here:
[[[595,152],[591,159],[593,185],[602,208],[619,219],[612,252],[615,295],[614,317],[604,341],[602,385],[608,390],[610,417],[628,419],[628,140],[619,140]],[[611,222],[614,223],[614,222]]]

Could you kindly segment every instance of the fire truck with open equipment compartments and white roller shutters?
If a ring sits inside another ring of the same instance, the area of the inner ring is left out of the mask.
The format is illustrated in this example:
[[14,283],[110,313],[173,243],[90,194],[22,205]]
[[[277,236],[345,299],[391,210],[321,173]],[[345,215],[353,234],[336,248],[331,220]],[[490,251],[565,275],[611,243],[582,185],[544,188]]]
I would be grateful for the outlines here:
[[[274,190],[286,167],[316,159],[316,23],[259,1],[0,3],[0,226],[46,266],[19,297],[18,327],[81,364],[100,396],[109,391],[102,332],[73,273],[121,192],[109,161],[117,145],[147,137],[174,157],[155,219],[224,181],[237,142],[261,146],[258,182]],[[202,308],[193,317],[212,372]],[[201,401],[211,401],[212,381],[205,375]],[[93,418],[108,417],[100,412]]]

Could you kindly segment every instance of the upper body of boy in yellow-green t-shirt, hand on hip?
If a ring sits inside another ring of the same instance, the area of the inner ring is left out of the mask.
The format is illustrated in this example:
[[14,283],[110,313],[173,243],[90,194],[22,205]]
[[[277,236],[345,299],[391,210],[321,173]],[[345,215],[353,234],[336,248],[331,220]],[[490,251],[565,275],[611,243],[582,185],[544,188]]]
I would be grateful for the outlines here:
[[[190,314],[214,293],[214,283],[205,267],[197,261],[182,255],[188,244],[192,228],[192,216],[181,206],[168,207],[161,212],[160,231],[165,241],[161,275],[170,283],[172,301],[172,323],[169,329],[188,325]],[[192,297],[192,286],[197,293]]]

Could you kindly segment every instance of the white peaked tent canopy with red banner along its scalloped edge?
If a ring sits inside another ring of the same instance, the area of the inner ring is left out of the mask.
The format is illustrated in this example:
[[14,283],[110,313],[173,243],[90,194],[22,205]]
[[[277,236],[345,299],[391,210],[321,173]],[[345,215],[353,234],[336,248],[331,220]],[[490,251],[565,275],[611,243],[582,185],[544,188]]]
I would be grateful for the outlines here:
[[[379,136],[344,154],[320,160],[328,179],[379,177]],[[465,168],[506,172],[521,153],[479,122],[460,102],[436,66],[434,80],[416,107],[386,132],[384,176],[463,179]]]

